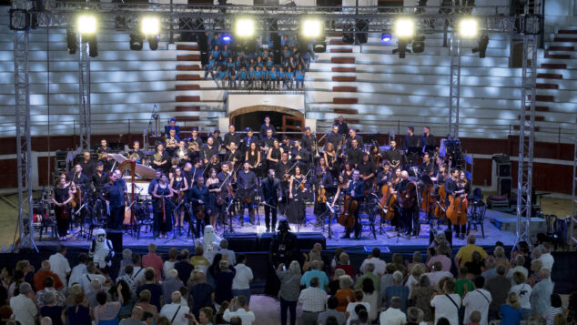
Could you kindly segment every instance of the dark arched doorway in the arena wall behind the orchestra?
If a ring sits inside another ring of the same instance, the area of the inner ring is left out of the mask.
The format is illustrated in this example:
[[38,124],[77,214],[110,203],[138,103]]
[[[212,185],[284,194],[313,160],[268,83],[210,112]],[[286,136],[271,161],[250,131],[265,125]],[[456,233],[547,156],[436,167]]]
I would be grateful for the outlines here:
[[305,116],[300,111],[267,105],[238,108],[230,113],[229,119],[240,131],[250,127],[258,133],[267,116],[270,117],[270,123],[277,127],[277,132],[302,132],[305,126]]

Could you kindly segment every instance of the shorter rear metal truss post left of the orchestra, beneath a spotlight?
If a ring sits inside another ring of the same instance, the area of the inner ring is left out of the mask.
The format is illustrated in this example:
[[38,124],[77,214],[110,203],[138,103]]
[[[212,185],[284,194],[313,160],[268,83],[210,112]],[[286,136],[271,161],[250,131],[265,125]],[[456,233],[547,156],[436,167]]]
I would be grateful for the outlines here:
[[[95,36],[96,37],[96,36]],[[78,34],[78,106],[80,107],[80,147],[90,151],[90,45]]]

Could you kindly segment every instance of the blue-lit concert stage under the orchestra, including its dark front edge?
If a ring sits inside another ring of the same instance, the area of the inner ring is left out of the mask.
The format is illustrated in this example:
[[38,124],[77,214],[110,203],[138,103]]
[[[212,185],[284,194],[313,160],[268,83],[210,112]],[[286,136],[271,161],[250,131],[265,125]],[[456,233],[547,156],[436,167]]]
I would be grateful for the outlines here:
[[[235,248],[231,245],[231,249],[235,251],[264,251],[268,250],[268,247],[262,247],[258,241],[261,239],[269,239],[271,233],[266,233],[266,227],[264,225],[264,213],[263,209],[260,208],[256,219],[260,218],[260,226],[258,225],[250,225],[248,223],[248,214],[245,214],[245,222],[244,226],[240,226],[238,221],[234,222],[233,229],[234,233],[223,233],[221,227],[218,227],[218,236],[219,237],[226,237],[232,238],[232,240],[236,243],[237,241],[248,240],[252,241],[248,248],[251,249],[242,249],[242,247]],[[282,217],[279,217],[282,218]],[[424,215],[421,212],[421,222],[424,220]],[[515,242],[516,236],[511,231],[505,231],[499,229],[495,226],[491,221],[494,222],[497,220],[497,224],[500,225],[501,229],[511,229],[511,225],[516,223],[516,217],[514,215],[504,213],[497,210],[487,209],[485,219],[483,222],[484,225],[484,232],[485,238],[483,239],[481,236],[481,227],[477,226],[477,230],[472,229],[471,226],[471,234],[477,236],[477,244],[482,247],[493,247],[495,242],[500,240],[505,244],[505,246],[512,246]],[[340,239],[340,237],[344,233],[344,228],[339,225],[337,220],[333,220],[331,224],[332,235],[329,238],[328,229],[329,224],[328,222],[325,223],[325,228],[321,229],[319,227],[314,227],[314,223],[316,222],[316,218],[312,213],[312,207],[307,208],[307,223],[306,226],[298,227],[297,225],[290,224],[291,231],[298,235],[298,237],[307,237],[309,240],[310,238],[313,239],[323,239],[326,241],[326,248],[327,250],[334,250],[336,248],[344,248],[350,249],[355,251],[367,251],[369,252],[370,249],[374,247],[380,247],[383,253],[394,253],[394,252],[401,252],[401,253],[412,253],[414,250],[425,250],[429,245],[429,233],[430,233],[430,226],[426,224],[421,224],[420,227],[420,236],[419,238],[411,237],[410,239],[397,237],[397,233],[394,231],[394,228],[388,224],[383,224],[382,229],[380,229],[380,221],[379,218],[375,221],[375,233],[376,239],[374,239],[372,232],[369,229],[369,226],[363,226],[363,231],[360,240],[353,240],[353,239]],[[447,226],[440,226],[440,229],[447,229]],[[514,228],[512,228],[514,230]],[[76,233],[77,229],[74,229],[72,233]],[[172,234],[172,233],[171,233]],[[170,235],[171,235],[170,234]],[[169,237],[170,237],[169,235]],[[130,234],[125,233],[122,239],[122,247],[132,249],[133,251],[146,251],[147,245],[150,243],[157,244],[158,250],[160,252],[166,252],[171,247],[177,248],[188,248],[194,245],[194,240],[192,237],[187,236],[187,229],[183,231],[182,235],[177,235],[176,238],[171,239],[154,239],[152,232],[145,231],[145,228],[142,228],[142,232],[140,234],[140,239],[137,239],[136,236],[132,237]],[[257,241],[256,243],[254,241]],[[265,240],[262,240],[263,243]],[[58,240],[53,239],[50,232],[48,234],[43,234],[43,239],[39,240],[38,235],[36,233],[35,236],[35,243],[38,246],[38,249],[53,249],[59,243]],[[63,242],[69,248],[75,249],[88,249],[89,242],[87,239],[83,239],[76,236],[68,236],[68,239]],[[267,241],[268,243],[268,241]],[[456,239],[452,238],[453,248],[459,248],[465,245],[464,239]],[[117,251],[121,251],[122,249],[117,249]],[[301,247],[300,249],[309,250],[309,247]]]

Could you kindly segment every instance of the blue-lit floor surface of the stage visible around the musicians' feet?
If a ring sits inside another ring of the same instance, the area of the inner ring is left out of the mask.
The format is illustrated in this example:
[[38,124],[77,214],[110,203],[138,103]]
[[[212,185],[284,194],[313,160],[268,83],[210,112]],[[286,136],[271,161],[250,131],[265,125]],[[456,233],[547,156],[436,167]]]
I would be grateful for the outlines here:
[[[259,209],[259,213],[256,217],[257,219],[260,218],[261,225],[250,225],[248,223],[248,214],[245,214],[245,223],[243,227],[240,227],[239,222],[235,222],[234,224],[234,232],[236,234],[242,233],[257,233],[258,236],[263,234],[266,231],[266,227],[264,226],[264,213],[263,209]],[[282,218],[282,217],[280,217]],[[424,218],[424,215],[421,213],[421,220]],[[516,222],[516,217],[511,214],[503,213],[496,210],[487,209],[486,217],[484,220],[484,230],[485,230],[485,238],[481,237],[481,227],[477,227],[477,230],[471,229],[471,234],[475,234],[477,236],[477,244],[480,246],[494,246],[495,242],[500,240],[506,246],[511,246],[514,244],[516,240],[516,236],[511,231],[501,231],[498,229],[491,220],[499,219],[501,220],[501,224],[503,220],[506,220],[510,223]],[[364,227],[362,231],[361,239],[353,240],[353,239],[340,239],[340,237],[344,234],[344,228],[337,223],[337,220],[333,220],[331,225],[331,229],[333,234],[329,239],[328,235],[328,223],[325,224],[325,229],[313,227],[313,224],[316,222],[316,218],[312,213],[312,207],[307,208],[307,224],[304,227],[298,227],[297,225],[290,225],[290,228],[293,232],[322,232],[323,236],[327,242],[327,249],[336,249],[336,248],[350,248],[353,247],[355,249],[365,249],[370,251],[373,247],[380,247],[380,248],[395,248],[395,247],[420,247],[425,248],[429,245],[429,232],[430,226],[429,225],[421,225],[420,228],[420,236],[418,238],[411,237],[410,239],[405,238],[397,238],[397,233],[394,231],[394,228],[388,224],[383,224],[382,229],[379,229],[379,218],[376,220],[376,236],[377,239],[373,238],[372,232],[369,230],[369,227]],[[502,226],[501,226],[502,227]],[[446,229],[447,226],[440,226],[440,229]],[[76,233],[77,229],[74,229],[72,233]],[[193,240],[191,237],[187,237],[185,233],[182,235],[177,235],[176,238],[171,239],[154,239],[152,232],[148,231],[145,232],[143,227],[140,239],[136,237],[130,236],[130,234],[125,233],[123,236],[123,247],[125,248],[143,248],[146,247],[149,243],[155,243],[161,250],[166,250],[170,247],[179,247],[179,248],[190,248],[193,245]],[[223,230],[219,227],[218,228],[218,236],[222,237],[224,235]],[[171,235],[169,235],[170,237]],[[38,235],[36,232],[35,236],[35,243],[39,249],[42,247],[55,247],[59,241],[57,239],[53,239],[51,234],[43,235],[43,239],[39,240]],[[83,239],[76,236],[68,236],[68,239],[64,241],[66,246],[69,247],[87,247],[89,245],[87,239]],[[456,239],[453,238],[453,247],[460,247],[465,245],[465,239]]]

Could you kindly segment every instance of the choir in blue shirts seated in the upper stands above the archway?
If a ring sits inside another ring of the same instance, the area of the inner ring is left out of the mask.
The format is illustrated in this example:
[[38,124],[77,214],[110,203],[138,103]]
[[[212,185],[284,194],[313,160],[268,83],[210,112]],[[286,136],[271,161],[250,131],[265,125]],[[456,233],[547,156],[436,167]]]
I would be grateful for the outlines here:
[[214,34],[208,38],[203,60],[205,78],[212,77],[223,88],[302,89],[314,54],[310,45],[300,48],[297,37],[281,37],[280,51],[275,54],[272,37],[231,43],[230,38]]

